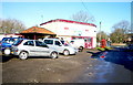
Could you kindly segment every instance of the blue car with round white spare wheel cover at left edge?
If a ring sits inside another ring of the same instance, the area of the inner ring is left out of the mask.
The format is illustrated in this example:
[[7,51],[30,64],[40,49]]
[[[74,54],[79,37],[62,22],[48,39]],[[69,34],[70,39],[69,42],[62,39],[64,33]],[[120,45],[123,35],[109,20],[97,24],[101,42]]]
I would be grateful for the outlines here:
[[2,54],[9,55],[11,53],[11,46],[12,44],[17,41],[20,40],[21,38],[3,38],[0,41],[0,50]]

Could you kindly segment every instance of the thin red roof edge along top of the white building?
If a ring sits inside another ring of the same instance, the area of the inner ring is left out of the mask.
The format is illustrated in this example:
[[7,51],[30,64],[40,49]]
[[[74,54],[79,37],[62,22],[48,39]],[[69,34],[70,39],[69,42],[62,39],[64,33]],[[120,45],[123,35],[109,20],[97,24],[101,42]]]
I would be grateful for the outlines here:
[[85,23],[85,22],[78,22],[78,21],[71,21],[71,20],[63,20],[63,19],[57,19],[57,20],[51,20],[44,23],[41,23],[40,25],[47,24],[47,23],[51,23],[51,22],[68,22],[68,23],[78,23],[78,24],[85,24],[85,25],[91,25],[91,26],[95,26],[95,24],[93,23]]

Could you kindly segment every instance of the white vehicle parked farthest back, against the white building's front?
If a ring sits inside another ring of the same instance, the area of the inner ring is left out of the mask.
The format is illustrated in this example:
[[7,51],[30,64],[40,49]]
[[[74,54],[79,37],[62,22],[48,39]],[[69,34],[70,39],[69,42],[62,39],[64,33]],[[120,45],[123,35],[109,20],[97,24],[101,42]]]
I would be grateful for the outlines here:
[[84,40],[82,40],[82,39],[71,40],[71,41],[70,41],[70,44],[71,44],[73,47],[79,49],[80,52],[83,51],[83,49],[84,49],[84,43],[85,43],[85,42],[84,42]]

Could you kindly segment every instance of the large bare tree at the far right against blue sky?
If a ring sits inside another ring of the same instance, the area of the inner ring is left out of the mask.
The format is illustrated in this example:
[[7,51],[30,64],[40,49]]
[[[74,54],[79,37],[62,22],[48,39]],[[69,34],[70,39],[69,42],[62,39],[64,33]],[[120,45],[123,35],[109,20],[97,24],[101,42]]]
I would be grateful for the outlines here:
[[113,32],[110,34],[110,38],[113,43],[123,43],[131,31],[130,22],[125,20],[114,24],[112,28]]

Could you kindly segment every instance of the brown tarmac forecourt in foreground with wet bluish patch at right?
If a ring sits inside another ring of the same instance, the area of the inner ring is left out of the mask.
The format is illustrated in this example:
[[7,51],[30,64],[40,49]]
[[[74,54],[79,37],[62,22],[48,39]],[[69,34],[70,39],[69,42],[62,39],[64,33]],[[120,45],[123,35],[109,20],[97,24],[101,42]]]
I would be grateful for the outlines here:
[[[3,57],[2,83],[131,83],[132,71],[123,65],[92,57],[98,51],[52,60]],[[108,54],[106,54],[108,55]],[[109,54],[110,56],[111,54]]]

